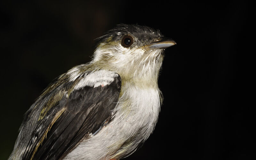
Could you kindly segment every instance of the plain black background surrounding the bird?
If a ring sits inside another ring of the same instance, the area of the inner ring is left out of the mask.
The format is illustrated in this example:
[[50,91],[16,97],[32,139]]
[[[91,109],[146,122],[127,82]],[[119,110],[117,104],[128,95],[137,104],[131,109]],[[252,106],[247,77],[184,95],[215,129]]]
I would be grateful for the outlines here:
[[125,159],[252,159],[253,5],[1,2],[0,159],[10,155],[23,114],[41,91],[71,67],[89,62],[94,39],[120,23],[160,29],[177,42],[165,51],[159,77],[164,105],[156,129]]

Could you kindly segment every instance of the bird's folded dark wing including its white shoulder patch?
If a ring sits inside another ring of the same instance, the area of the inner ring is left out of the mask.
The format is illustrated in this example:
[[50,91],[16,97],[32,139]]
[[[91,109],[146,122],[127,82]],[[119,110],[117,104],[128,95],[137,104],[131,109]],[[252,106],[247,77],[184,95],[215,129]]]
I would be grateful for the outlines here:
[[[61,83],[47,91],[48,101],[57,93],[62,98],[57,105],[42,109],[22,159],[61,159],[111,119],[120,94],[121,78],[110,71],[97,72],[74,79],[69,84],[76,81],[70,93],[63,90]],[[41,101],[47,104],[47,100]]]

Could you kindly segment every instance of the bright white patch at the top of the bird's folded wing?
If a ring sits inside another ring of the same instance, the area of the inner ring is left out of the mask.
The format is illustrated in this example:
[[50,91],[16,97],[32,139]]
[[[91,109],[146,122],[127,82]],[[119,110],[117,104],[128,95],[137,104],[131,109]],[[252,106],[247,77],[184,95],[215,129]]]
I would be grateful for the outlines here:
[[117,77],[113,71],[107,70],[98,70],[95,72],[91,72],[88,75],[84,76],[74,87],[75,90],[83,88],[84,86],[90,87],[99,87],[99,86],[106,86],[111,84],[115,77]]

